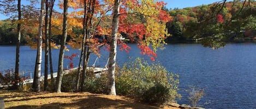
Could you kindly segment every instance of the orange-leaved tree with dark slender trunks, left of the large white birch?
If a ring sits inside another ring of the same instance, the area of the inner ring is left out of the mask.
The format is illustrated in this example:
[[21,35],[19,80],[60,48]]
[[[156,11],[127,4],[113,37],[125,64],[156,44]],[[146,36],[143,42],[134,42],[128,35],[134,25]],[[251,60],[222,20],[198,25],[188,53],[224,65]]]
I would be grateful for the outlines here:
[[[87,65],[90,59],[90,54],[94,53],[100,57],[99,48],[106,42],[99,42],[98,36],[106,35],[108,32],[100,29],[104,26],[103,19],[106,13],[110,10],[110,6],[105,4],[106,1],[98,0],[80,0],[70,1],[69,7],[74,10],[82,9],[79,11],[73,11],[69,15],[69,25],[72,30],[69,32],[70,40],[68,44],[72,48],[80,48],[80,61],[78,66],[78,80],[76,82],[76,91],[84,91],[84,84],[86,83]],[[81,18],[81,16],[83,16]],[[76,30],[82,32],[75,33]]]

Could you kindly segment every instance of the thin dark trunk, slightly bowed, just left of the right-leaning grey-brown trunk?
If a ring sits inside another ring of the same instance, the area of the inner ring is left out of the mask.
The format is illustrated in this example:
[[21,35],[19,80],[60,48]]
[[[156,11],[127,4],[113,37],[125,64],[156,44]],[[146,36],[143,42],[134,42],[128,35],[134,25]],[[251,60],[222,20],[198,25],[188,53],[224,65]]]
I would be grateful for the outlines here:
[[51,90],[52,91],[55,91],[55,79],[53,78],[53,68],[52,68],[52,55],[51,55],[51,18],[52,18],[52,11],[53,11],[53,6],[54,6],[54,2],[55,0],[51,0],[50,1],[50,16],[49,16],[49,37],[48,37],[48,40],[49,40],[49,60],[50,60],[50,74],[51,74]]

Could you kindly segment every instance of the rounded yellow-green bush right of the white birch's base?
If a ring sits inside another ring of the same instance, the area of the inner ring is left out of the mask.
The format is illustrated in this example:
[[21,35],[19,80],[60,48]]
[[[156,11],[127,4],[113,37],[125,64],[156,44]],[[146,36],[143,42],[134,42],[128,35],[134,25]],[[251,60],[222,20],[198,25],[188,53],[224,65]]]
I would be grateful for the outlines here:
[[180,97],[177,78],[178,75],[168,72],[159,63],[149,65],[137,58],[125,63],[116,74],[116,92],[150,104],[174,102]]

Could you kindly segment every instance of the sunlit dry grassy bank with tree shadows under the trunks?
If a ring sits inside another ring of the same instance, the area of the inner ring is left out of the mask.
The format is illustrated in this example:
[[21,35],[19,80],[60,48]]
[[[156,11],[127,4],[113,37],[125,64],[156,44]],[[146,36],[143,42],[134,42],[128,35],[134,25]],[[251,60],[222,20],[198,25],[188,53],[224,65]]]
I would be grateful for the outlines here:
[[0,90],[5,109],[33,108],[173,108],[169,106],[150,106],[122,96],[92,93],[50,93]]

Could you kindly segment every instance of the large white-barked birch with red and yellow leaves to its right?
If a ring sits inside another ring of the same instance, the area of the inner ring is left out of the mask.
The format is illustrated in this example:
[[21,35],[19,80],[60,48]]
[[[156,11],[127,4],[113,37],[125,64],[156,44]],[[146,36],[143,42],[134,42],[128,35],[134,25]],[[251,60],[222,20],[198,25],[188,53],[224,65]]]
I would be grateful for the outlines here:
[[115,0],[110,42],[108,94],[116,95],[114,77],[116,45],[119,43],[121,50],[130,49],[126,43],[118,41],[117,36],[120,33],[127,34],[132,42],[138,44],[141,54],[148,55],[151,60],[154,60],[154,57],[157,57],[156,48],[163,47],[164,40],[168,36],[165,23],[170,20],[170,17],[162,10],[164,4],[164,2],[151,0],[139,2]]

